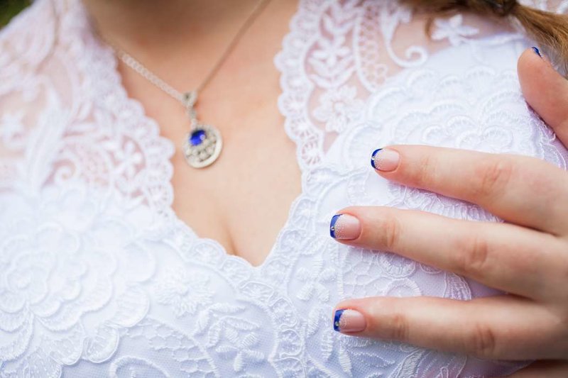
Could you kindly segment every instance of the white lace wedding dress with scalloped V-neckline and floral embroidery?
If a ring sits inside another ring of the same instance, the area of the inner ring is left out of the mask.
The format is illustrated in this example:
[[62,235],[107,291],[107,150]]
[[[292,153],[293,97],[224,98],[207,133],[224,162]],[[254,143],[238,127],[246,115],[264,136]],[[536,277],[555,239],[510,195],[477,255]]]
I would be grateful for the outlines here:
[[332,308],[345,298],[494,293],[329,238],[334,211],[349,205],[496,220],[386,182],[369,167],[373,149],[422,143],[567,165],[567,151],[520,94],[522,33],[486,33],[488,24],[457,15],[435,21],[429,41],[422,21],[395,1],[300,1],[275,64],[302,194],[266,262],[251,267],[175,216],[173,143],[127,97],[82,4],[35,1],[0,33],[0,377],[517,369],[332,328]]

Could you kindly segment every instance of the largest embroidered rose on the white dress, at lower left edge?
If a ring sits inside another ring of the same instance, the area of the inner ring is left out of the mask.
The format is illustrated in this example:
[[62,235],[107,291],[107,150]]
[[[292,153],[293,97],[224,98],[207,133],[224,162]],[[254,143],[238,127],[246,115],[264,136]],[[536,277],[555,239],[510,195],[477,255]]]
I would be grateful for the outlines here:
[[[133,284],[148,277],[153,262],[136,248],[146,269],[124,274],[119,279],[126,287],[117,288],[114,273],[128,259],[129,231],[92,211],[97,203],[95,195],[70,184],[60,193],[45,189],[35,199],[14,197],[4,209],[0,361],[34,355],[43,372],[55,374],[53,369],[80,359],[107,360],[116,350],[117,329],[146,315],[148,297]],[[117,229],[124,238],[109,236]],[[94,239],[98,243],[87,241]],[[97,323],[86,325],[85,314],[97,311]],[[53,337],[43,337],[47,333]]]

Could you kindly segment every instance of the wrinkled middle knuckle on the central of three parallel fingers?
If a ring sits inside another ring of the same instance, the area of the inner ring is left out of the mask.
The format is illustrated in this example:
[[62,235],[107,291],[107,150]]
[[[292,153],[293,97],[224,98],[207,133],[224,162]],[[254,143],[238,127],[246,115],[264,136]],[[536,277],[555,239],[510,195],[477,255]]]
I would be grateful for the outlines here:
[[464,238],[461,242],[464,245],[459,248],[456,254],[455,273],[463,275],[474,275],[477,278],[487,272],[491,248],[483,235],[474,233],[469,238]]

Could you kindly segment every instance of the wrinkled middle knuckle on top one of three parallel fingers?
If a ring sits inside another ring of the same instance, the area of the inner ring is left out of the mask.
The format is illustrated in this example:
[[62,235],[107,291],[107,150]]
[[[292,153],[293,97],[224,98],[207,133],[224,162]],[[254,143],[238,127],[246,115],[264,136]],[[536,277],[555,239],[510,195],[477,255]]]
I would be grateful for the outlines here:
[[479,181],[474,185],[478,196],[492,196],[501,193],[510,182],[513,163],[503,157],[487,157],[479,169]]

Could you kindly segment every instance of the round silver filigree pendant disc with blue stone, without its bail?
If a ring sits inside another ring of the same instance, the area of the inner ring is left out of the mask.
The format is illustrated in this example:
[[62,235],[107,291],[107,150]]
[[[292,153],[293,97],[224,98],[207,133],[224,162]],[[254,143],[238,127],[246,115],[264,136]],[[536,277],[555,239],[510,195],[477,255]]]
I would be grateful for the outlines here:
[[212,165],[222,148],[223,140],[219,130],[204,123],[195,123],[183,143],[185,160],[194,168]]

